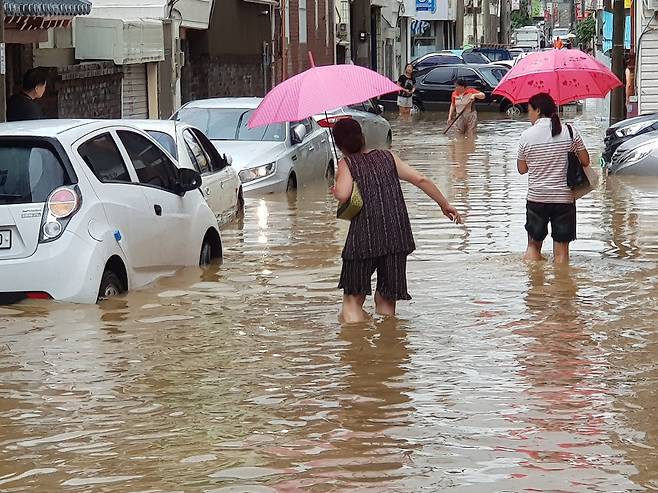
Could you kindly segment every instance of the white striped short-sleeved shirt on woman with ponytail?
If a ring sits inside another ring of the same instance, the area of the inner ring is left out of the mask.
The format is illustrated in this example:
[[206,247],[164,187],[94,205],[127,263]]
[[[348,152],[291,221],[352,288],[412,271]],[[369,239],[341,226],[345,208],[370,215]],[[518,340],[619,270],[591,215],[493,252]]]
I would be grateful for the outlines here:
[[568,154],[585,150],[585,144],[578,131],[573,127],[572,130],[573,141],[565,124],[562,124],[562,133],[553,137],[551,119],[540,118],[521,134],[518,159],[528,165],[530,202],[574,202],[573,192],[567,185]]

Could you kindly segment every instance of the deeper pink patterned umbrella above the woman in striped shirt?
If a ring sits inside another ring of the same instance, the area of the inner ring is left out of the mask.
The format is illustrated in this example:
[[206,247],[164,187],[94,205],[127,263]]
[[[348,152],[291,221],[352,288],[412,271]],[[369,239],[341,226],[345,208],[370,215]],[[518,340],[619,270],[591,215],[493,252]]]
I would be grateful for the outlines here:
[[507,72],[494,90],[512,103],[526,103],[547,92],[558,105],[604,98],[621,81],[605,65],[579,50],[530,53]]

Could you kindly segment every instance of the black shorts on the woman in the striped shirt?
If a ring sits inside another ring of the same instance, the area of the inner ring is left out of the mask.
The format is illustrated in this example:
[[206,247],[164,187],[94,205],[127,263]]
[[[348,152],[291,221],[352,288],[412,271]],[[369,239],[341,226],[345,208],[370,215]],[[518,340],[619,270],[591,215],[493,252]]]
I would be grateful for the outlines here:
[[558,243],[576,239],[576,204],[530,202],[526,205],[525,229],[534,241],[544,241],[551,223],[551,237]]

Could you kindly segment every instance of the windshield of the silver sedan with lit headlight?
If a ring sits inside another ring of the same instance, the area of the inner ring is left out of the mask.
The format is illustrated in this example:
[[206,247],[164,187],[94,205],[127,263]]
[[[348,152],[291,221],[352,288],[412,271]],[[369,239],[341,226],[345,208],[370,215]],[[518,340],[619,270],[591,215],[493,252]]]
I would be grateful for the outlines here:
[[285,123],[249,128],[254,110],[245,108],[183,108],[176,119],[194,125],[210,140],[284,142]]

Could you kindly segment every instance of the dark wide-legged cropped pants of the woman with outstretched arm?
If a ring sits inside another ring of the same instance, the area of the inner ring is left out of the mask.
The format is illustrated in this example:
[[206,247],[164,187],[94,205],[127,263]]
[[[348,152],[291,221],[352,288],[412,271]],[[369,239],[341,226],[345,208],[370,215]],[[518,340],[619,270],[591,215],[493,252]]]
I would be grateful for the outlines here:
[[410,300],[407,292],[407,254],[346,260],[340,273],[338,287],[345,294],[372,294],[372,275],[377,271],[377,291],[390,300]]

